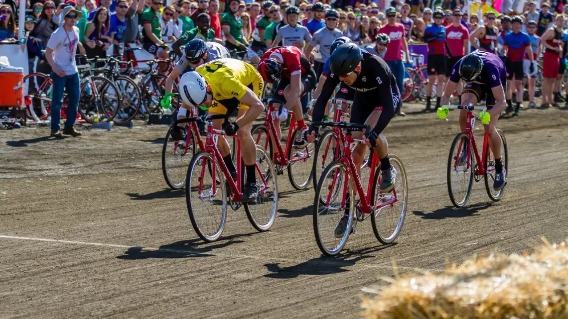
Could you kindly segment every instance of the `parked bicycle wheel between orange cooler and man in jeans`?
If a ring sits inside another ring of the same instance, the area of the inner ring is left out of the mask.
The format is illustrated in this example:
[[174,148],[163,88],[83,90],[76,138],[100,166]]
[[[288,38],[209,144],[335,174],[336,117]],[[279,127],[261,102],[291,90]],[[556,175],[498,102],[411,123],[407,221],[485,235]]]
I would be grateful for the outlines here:
[[[44,85],[45,81],[49,82]],[[33,90],[30,92],[32,84]],[[49,89],[50,87],[53,88],[53,83],[49,75],[41,72],[30,73],[23,78],[23,86],[27,89],[26,95],[31,99],[30,105],[27,106],[26,116],[36,122],[47,119],[51,115],[52,98],[49,96]],[[41,92],[38,92],[39,90],[41,90]],[[38,111],[40,115],[37,115]]]

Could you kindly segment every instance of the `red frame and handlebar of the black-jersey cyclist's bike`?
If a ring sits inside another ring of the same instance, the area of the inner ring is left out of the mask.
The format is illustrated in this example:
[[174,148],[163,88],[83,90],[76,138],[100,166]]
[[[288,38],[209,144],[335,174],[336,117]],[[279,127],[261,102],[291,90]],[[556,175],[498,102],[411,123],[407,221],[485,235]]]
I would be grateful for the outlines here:
[[[362,125],[360,124],[347,124],[347,123],[329,123],[329,122],[314,122],[312,123],[312,125],[322,125],[320,123],[324,123],[323,125],[326,124],[335,124],[335,125],[329,125],[329,126],[336,126],[336,127],[343,127],[343,128],[354,128],[354,127],[361,127]],[[340,124],[340,125],[337,125]],[[345,142],[344,142],[344,153],[343,156],[341,157],[341,159],[339,160],[342,163],[345,163],[345,166],[347,167],[347,171],[345,174],[345,178],[344,178],[344,190],[345,192],[343,193],[343,198],[341,199],[341,205],[343,207],[345,207],[345,202],[346,202],[346,198],[347,198],[347,189],[348,189],[348,183],[349,183],[349,174],[351,174],[354,177],[354,184],[355,187],[357,188],[357,194],[359,195],[360,200],[360,204],[358,209],[362,212],[362,213],[366,213],[369,214],[371,213],[371,194],[373,193],[373,180],[375,178],[375,174],[377,173],[377,167],[379,165],[379,158],[377,156],[377,152],[374,152],[373,154],[373,159],[371,160],[371,173],[370,173],[370,177],[369,177],[369,183],[367,184],[367,193],[365,194],[365,191],[363,190],[363,186],[361,184],[361,178],[359,176],[359,174],[357,173],[357,170],[355,169],[355,163],[353,162],[353,157],[351,156],[352,154],[352,150],[355,149],[355,147],[358,144],[364,144],[365,141],[364,140],[356,140],[351,136],[351,133],[348,132],[345,134]],[[333,181],[332,181],[332,186],[331,189],[334,189],[334,185],[335,183],[337,183],[337,181],[339,180],[339,170],[333,175]],[[378,183],[381,182],[381,179],[379,178]],[[394,198],[389,199],[389,200],[383,200],[380,203],[373,203],[373,211],[380,209],[382,207],[385,207],[387,205],[392,205],[396,202],[398,202],[398,198],[396,198],[396,190],[395,188],[392,189],[392,194],[394,195]],[[329,202],[331,201],[331,197],[333,195],[333,192],[329,192],[327,195],[327,199],[325,201],[326,205],[329,205]]]

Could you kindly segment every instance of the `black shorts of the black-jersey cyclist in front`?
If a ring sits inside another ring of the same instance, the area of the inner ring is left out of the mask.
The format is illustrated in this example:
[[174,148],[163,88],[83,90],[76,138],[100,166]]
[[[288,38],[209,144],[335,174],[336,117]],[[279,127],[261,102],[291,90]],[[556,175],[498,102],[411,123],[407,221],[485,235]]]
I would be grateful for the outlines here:
[[396,107],[400,100],[400,93],[396,82],[391,84],[391,96],[377,96],[376,92],[355,92],[353,97],[353,106],[351,107],[350,123],[365,124],[367,117],[377,108],[382,108],[381,116],[377,121],[377,125],[373,128],[373,132],[381,134],[387,127],[390,120],[396,114]]

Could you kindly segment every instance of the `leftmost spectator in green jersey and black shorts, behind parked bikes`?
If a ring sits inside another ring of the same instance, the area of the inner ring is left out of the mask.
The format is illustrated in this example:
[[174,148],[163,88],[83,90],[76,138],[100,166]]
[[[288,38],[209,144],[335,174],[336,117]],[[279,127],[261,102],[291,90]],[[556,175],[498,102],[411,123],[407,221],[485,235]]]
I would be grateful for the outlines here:
[[[144,27],[142,47],[154,56],[165,60],[169,58],[169,49],[161,39],[160,9],[162,9],[162,0],[152,0],[152,6],[142,12],[141,21]],[[160,73],[165,74],[167,71],[168,64],[161,63]]]

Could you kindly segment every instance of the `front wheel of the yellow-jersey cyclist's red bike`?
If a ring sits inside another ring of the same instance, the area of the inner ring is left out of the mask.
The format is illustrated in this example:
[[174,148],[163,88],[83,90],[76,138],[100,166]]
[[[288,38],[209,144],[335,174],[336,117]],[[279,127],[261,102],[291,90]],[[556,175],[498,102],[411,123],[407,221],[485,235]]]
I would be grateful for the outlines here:
[[[191,220],[191,225],[193,226],[195,233],[197,233],[197,236],[199,236],[199,238],[201,238],[205,242],[217,241],[223,234],[223,230],[225,228],[225,224],[227,221],[227,191],[225,190],[224,182],[218,183],[215,194],[221,196],[221,205],[222,205],[221,216],[219,219],[219,223],[218,224],[215,223],[216,225],[214,225],[214,228],[216,227],[216,229],[212,232],[212,234],[209,234],[203,230],[204,223],[202,223],[201,218],[198,218],[196,216],[197,212],[199,213],[203,212],[203,209],[198,208],[197,204],[204,203],[206,201],[202,200],[202,198],[193,199],[192,193],[199,192],[199,188],[197,188],[197,191],[194,191],[193,190],[194,187],[191,184],[191,181],[193,181],[194,177],[197,177],[198,178],[197,181],[202,182],[205,178],[203,174],[210,174],[211,171],[208,169],[207,170],[204,169],[203,166],[207,165],[208,167],[211,167],[213,161],[216,161],[216,159],[213,158],[211,153],[208,153],[206,151],[198,152],[197,154],[195,154],[193,158],[191,158],[191,162],[189,163],[189,167],[187,169],[187,177],[186,177],[186,184],[189,184],[189,186],[185,188],[187,213],[189,214],[189,219]],[[220,174],[219,176],[223,176],[219,163],[216,163],[215,167],[216,167],[216,174]],[[213,178],[211,176],[211,181],[212,180]],[[199,196],[202,195],[199,194],[198,197]]]

